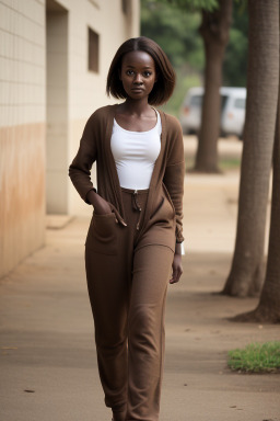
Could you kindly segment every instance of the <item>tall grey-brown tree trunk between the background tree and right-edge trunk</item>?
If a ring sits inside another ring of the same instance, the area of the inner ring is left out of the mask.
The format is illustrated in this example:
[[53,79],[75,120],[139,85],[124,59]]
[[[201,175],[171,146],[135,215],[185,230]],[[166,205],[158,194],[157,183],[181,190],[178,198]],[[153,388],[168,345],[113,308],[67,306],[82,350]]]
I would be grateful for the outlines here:
[[223,294],[259,293],[279,86],[279,0],[249,0],[249,57],[237,232]]

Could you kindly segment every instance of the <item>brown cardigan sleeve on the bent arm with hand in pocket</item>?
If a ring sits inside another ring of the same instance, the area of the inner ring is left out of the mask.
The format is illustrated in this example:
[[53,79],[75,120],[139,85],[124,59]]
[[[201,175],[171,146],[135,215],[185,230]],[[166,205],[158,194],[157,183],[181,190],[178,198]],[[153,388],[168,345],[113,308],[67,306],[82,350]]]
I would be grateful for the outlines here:
[[91,180],[92,164],[97,157],[95,124],[94,113],[85,124],[78,153],[69,167],[69,177],[82,200],[88,204],[90,203],[86,201],[86,194],[90,190],[95,190]]

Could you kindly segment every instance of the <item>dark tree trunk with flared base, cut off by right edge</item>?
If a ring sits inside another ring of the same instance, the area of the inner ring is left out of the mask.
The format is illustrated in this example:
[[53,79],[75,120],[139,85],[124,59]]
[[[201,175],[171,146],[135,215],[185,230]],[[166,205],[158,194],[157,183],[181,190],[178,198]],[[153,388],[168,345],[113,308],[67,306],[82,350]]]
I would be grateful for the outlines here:
[[236,316],[234,320],[280,322],[280,90],[273,151],[273,187],[266,281],[257,308]]

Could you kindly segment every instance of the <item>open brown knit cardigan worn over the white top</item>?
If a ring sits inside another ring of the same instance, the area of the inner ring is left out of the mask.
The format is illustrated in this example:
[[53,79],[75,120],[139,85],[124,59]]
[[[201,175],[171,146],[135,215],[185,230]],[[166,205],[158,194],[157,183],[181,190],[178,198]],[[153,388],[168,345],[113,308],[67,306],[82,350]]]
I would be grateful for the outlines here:
[[[94,189],[91,181],[91,168],[96,161],[98,194],[109,202],[118,221],[126,225],[121,216],[124,215],[121,190],[110,150],[116,106],[117,104],[98,109],[88,120],[80,148],[69,168],[69,175],[81,197],[89,203],[86,194]],[[185,177],[182,128],[175,117],[160,110],[159,112],[162,121],[161,151],[150,182],[143,226],[153,214],[162,191],[167,190],[176,214],[176,241],[182,242],[184,240],[182,219]]]

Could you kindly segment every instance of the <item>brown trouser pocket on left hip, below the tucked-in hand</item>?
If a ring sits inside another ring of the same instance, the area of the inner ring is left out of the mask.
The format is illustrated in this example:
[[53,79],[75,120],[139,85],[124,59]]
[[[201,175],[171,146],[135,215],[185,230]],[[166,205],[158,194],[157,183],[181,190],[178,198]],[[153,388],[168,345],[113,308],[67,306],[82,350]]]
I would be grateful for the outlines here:
[[85,247],[102,254],[117,253],[117,223],[116,216],[109,214],[97,215],[93,212]]

